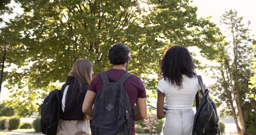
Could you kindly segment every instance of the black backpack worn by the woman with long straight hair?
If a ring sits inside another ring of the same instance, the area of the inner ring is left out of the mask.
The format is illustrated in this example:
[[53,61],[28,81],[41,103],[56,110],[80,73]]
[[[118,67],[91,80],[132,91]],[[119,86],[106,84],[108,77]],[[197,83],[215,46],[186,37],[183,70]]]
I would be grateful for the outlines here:
[[43,100],[41,110],[41,129],[45,135],[56,135],[60,117],[61,91],[56,89]]

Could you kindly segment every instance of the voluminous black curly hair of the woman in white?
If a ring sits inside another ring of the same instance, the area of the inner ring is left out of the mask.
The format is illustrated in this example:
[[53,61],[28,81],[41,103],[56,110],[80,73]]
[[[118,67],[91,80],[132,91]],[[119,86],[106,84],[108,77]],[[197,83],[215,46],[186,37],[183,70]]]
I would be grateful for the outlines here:
[[196,76],[195,64],[187,50],[180,45],[174,45],[164,52],[161,61],[161,75],[169,84],[182,88],[183,77],[186,74],[192,78]]

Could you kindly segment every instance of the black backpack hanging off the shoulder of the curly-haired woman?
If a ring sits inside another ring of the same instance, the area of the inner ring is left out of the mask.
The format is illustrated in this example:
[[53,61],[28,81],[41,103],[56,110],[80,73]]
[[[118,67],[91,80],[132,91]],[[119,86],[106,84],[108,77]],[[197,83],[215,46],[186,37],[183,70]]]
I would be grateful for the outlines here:
[[217,109],[213,100],[208,97],[209,90],[204,90],[203,80],[200,75],[197,75],[203,98],[199,105],[199,93],[196,94],[197,113],[194,118],[192,135],[217,135],[220,134],[220,122],[217,114]]

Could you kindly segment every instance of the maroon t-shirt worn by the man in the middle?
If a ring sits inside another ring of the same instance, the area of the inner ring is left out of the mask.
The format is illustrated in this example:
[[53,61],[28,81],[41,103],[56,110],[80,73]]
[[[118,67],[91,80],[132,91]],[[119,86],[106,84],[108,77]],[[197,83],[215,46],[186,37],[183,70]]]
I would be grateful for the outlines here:
[[[106,71],[108,77],[112,78],[113,80],[117,81],[121,76],[123,76],[127,71],[122,69],[109,69]],[[137,98],[146,98],[146,90],[144,84],[142,83],[141,79],[135,75],[129,77],[123,83],[125,90],[130,98],[131,103],[131,110],[135,106],[135,102]],[[102,87],[102,79],[98,74],[96,77],[92,79],[91,84],[88,87],[88,90],[98,93],[100,88]],[[135,135],[135,123],[132,122],[131,126],[131,135]]]

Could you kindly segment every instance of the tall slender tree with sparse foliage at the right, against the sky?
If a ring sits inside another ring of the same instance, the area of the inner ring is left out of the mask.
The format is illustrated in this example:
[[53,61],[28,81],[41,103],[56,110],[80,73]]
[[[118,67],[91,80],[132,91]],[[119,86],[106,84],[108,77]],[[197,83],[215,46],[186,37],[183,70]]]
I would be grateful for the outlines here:
[[[245,116],[247,113],[255,113],[256,104],[246,96],[250,91],[248,88],[249,77],[253,74],[250,71],[250,59],[253,56],[252,36],[249,34],[248,25],[243,23],[243,17],[237,16],[234,10],[226,11],[221,17],[221,23],[225,25],[227,40],[230,39],[220,54],[218,62],[220,63],[214,70],[217,83],[212,86],[215,95],[219,97],[219,102],[226,104],[222,113],[233,116],[236,122],[237,132],[240,132],[238,118],[240,119],[243,135],[246,135]],[[225,42],[222,43],[226,44]],[[235,104],[235,105],[234,105]]]

